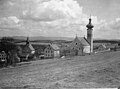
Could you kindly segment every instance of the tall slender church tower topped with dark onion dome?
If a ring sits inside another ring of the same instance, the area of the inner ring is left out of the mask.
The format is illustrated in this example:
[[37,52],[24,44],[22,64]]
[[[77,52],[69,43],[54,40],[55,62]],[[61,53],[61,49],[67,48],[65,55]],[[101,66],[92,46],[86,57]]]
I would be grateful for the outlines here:
[[89,23],[86,25],[87,27],[87,40],[90,44],[90,52],[93,52],[93,25],[91,23],[91,18],[89,19]]

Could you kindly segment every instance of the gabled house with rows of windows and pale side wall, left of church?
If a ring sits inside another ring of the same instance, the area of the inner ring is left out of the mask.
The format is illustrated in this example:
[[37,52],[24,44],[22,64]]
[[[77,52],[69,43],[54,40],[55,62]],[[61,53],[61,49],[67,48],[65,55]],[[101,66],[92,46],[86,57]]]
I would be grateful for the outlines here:
[[60,57],[60,48],[56,44],[48,45],[44,50],[45,58]]

